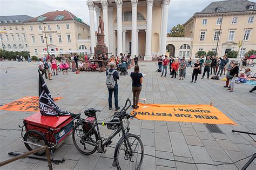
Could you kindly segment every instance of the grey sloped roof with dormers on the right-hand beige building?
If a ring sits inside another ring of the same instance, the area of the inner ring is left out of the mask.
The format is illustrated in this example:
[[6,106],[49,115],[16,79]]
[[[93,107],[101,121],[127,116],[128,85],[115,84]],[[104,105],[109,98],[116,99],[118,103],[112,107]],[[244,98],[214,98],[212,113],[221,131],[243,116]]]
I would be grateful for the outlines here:
[[[254,5],[254,9],[249,10],[249,6]],[[216,9],[220,7],[220,13],[225,12],[244,12],[244,11],[256,11],[256,3],[247,0],[227,0],[212,2],[201,12],[196,12],[195,14],[206,14],[206,13],[219,13]]]

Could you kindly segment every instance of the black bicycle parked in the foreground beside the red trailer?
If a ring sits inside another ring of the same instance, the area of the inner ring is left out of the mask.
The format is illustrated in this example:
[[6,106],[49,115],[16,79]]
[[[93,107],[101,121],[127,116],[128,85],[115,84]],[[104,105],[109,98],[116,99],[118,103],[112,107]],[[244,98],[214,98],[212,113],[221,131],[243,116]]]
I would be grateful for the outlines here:
[[[129,106],[127,103],[129,102]],[[126,107],[127,106],[127,107]],[[109,146],[119,132],[123,135],[119,139],[114,151],[113,167],[117,169],[139,169],[142,166],[144,157],[144,148],[142,140],[135,135],[129,133],[129,119],[135,115],[127,114],[127,109],[131,107],[131,101],[126,100],[125,106],[119,112],[115,112],[113,118],[107,122],[99,122],[96,117],[94,108],[85,110],[86,119],[79,119],[73,128],[72,140],[78,151],[85,155],[90,155],[96,152],[105,153],[105,147]],[[123,119],[127,119],[127,127],[125,128]],[[99,125],[107,125],[107,128],[113,130],[113,133],[108,138],[102,138],[99,132]],[[111,147],[111,146],[110,146]]]

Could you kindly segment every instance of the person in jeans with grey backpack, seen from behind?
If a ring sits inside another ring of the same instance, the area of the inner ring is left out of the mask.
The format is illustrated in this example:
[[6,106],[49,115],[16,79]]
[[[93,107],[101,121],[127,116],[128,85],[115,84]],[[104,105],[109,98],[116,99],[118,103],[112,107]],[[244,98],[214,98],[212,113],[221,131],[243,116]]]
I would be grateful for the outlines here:
[[109,110],[112,110],[112,96],[114,92],[114,106],[116,107],[116,111],[120,109],[118,106],[118,84],[117,80],[119,80],[119,75],[116,70],[114,70],[114,67],[116,66],[114,62],[111,62],[110,64],[110,69],[106,71],[106,76],[110,74],[113,77],[114,82],[114,87],[113,89],[107,88],[109,91]]

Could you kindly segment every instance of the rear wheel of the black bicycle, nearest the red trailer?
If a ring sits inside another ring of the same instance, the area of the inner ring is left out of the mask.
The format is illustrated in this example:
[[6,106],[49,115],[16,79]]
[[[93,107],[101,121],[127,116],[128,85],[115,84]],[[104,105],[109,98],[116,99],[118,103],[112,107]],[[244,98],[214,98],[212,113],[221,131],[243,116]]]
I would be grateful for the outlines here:
[[98,133],[95,129],[87,133],[91,128],[92,125],[87,122],[83,122],[82,124],[78,123],[73,128],[73,143],[78,151],[85,155],[93,154],[97,149],[96,142],[99,140]]

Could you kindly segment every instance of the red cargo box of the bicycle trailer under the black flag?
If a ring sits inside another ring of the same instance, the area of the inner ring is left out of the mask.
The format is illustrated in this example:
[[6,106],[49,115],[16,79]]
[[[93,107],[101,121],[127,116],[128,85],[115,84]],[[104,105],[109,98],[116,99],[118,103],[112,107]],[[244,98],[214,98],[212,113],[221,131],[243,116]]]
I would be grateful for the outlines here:
[[71,115],[53,117],[35,113],[24,119],[26,131],[36,130],[44,134],[48,142],[53,145],[60,142],[71,134],[73,121]]

